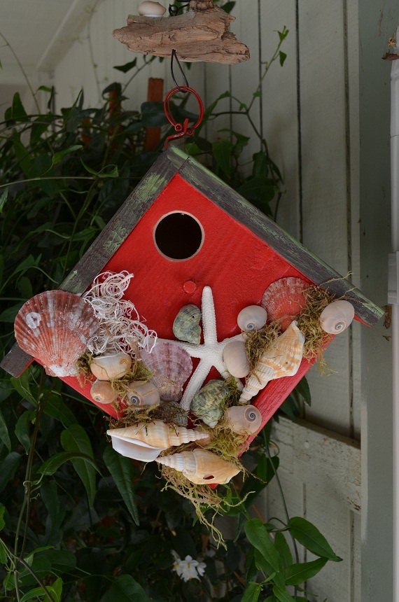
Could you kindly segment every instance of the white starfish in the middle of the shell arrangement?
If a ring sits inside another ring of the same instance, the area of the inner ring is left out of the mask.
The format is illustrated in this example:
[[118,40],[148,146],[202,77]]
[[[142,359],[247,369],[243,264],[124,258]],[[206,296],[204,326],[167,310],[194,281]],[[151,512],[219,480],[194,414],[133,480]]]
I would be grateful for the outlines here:
[[[227,379],[231,377],[226,365],[223,361],[223,349],[230,341],[244,340],[242,334],[229,337],[221,342],[218,342],[216,333],[216,314],[214,306],[214,295],[210,286],[204,286],[202,290],[202,332],[204,333],[204,342],[202,344],[186,343],[183,341],[174,341],[179,344],[182,349],[190,353],[192,358],[200,358],[200,363],[191,374],[190,380],[186,385],[186,389],[181,398],[180,405],[183,409],[190,409],[190,403],[195,393],[200,391],[204,380],[207,378],[211,367],[216,367],[220,372],[221,377]],[[242,383],[237,380],[237,385],[242,388]]]

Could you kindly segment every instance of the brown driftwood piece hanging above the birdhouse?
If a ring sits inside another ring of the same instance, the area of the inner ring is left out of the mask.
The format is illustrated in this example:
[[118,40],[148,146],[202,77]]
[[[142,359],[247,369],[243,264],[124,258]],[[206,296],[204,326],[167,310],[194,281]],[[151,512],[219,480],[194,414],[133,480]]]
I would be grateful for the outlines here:
[[113,37],[144,55],[170,57],[176,50],[181,61],[237,64],[249,59],[249,50],[229,31],[234,20],[211,0],[191,0],[190,10],[176,17],[129,15]]

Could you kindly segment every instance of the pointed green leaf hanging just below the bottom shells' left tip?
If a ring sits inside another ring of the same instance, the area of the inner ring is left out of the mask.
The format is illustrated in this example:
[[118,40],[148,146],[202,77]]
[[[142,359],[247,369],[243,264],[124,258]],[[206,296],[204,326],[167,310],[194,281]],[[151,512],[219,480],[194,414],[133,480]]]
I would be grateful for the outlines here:
[[115,481],[118,491],[123,498],[134,522],[139,525],[139,513],[137,512],[136,494],[134,492],[134,472],[132,461],[121,456],[108,446],[104,449],[104,463]]

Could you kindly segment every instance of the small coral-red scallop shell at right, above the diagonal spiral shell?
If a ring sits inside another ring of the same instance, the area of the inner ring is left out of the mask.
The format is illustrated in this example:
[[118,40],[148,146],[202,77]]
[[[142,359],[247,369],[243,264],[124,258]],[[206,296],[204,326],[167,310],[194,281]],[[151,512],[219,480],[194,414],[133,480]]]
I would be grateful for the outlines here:
[[269,322],[279,320],[281,330],[286,330],[306,305],[303,294],[306,288],[309,284],[294,276],[272,282],[262,297],[262,307],[267,311]]

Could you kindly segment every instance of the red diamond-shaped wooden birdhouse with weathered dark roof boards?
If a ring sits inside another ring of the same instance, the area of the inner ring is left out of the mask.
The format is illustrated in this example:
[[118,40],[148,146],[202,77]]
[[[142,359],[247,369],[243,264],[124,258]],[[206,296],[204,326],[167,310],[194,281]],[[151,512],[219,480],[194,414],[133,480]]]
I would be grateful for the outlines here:
[[[176,397],[182,396],[184,409],[193,410],[193,397],[208,381],[220,382],[233,374],[239,390],[237,405],[249,402],[261,414],[257,430],[309,370],[318,352],[349,325],[353,314],[367,325],[382,314],[344,277],[193,158],[172,147],[158,158],[60,288],[83,295],[96,279],[97,283],[104,280],[106,276],[100,274],[129,274],[123,299],[137,312],[130,314],[130,320],[148,328],[151,344],[142,353],[152,358],[147,362],[152,375],[156,367],[151,361],[155,362],[161,343],[174,342],[174,349],[177,344],[190,359]],[[336,314],[335,307],[335,314],[328,316],[337,300],[344,302],[344,309]],[[313,301],[317,322],[330,321],[330,325],[323,326],[320,349],[305,353],[304,310]],[[181,334],[176,317],[183,319],[185,311],[190,333]],[[40,312],[30,310],[31,328],[40,319]],[[263,353],[266,367],[260,367],[261,354],[251,373],[251,368],[242,367],[248,360],[251,331],[262,332],[270,323],[276,338],[268,344],[269,352]],[[25,316],[24,328],[29,330],[26,324]],[[83,332],[81,325],[75,330]],[[281,359],[283,353],[288,358]],[[15,345],[1,365],[18,376],[31,360]],[[183,369],[185,360],[178,358],[176,363]],[[76,376],[59,375],[111,416],[120,415],[123,405],[118,405],[116,395],[104,403],[92,394],[94,377],[83,384]],[[204,405],[201,398],[197,405]],[[201,417],[200,410],[197,416]]]

